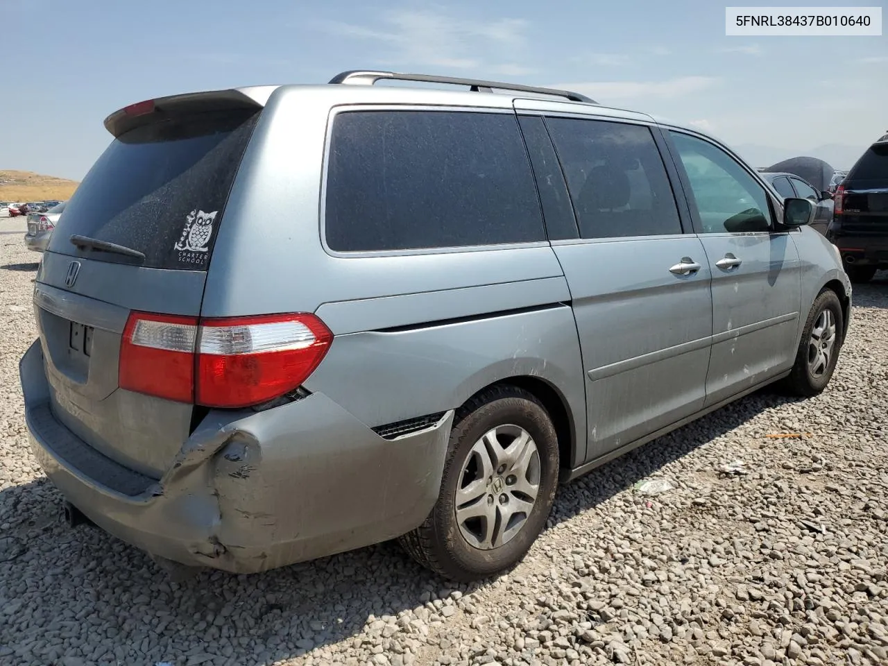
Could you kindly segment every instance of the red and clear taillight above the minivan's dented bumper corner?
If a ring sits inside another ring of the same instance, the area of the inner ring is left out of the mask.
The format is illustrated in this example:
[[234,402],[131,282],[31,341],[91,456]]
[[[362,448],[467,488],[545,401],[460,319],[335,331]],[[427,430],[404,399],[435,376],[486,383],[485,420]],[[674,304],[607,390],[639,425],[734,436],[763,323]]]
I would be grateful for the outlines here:
[[248,407],[301,385],[332,339],[313,314],[197,320],[131,313],[119,384],[206,407]]

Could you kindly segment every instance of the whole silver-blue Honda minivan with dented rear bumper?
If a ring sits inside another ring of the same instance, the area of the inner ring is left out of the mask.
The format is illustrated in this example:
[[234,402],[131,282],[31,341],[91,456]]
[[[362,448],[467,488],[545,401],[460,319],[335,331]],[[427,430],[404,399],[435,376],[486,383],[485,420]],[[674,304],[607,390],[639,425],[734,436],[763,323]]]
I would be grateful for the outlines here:
[[816,395],[844,341],[812,201],[575,92],[345,72],[106,128],[36,274],[25,419],[72,521],[162,561],[400,537],[495,575],[559,479],[776,381]]

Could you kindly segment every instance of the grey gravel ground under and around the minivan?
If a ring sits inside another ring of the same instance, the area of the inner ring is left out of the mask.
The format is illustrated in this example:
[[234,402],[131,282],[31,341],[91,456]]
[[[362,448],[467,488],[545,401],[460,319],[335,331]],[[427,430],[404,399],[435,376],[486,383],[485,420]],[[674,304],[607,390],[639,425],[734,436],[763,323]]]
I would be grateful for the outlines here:
[[[450,586],[385,543],[172,583],[140,551],[63,527],[28,449],[23,228],[0,224],[0,663],[888,663],[885,274],[855,292],[827,392],[751,396],[562,488],[495,582]],[[786,432],[809,434],[767,437]]]

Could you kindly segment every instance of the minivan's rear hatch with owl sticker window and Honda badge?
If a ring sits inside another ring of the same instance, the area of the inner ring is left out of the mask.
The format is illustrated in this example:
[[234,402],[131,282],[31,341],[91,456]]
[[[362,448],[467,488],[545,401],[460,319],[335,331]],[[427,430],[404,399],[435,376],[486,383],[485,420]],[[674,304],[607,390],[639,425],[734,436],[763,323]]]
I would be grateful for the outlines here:
[[213,243],[261,109],[231,92],[223,104],[207,93],[110,116],[117,136],[67,202],[36,279],[53,414],[91,447],[156,479],[192,430],[193,400],[119,387],[123,329],[133,311],[200,313]]

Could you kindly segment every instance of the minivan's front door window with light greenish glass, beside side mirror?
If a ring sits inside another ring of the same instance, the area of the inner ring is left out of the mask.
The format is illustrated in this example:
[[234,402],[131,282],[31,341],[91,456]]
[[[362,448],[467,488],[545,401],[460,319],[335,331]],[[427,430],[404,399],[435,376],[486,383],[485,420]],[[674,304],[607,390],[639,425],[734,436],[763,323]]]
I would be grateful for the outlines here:
[[704,234],[765,232],[771,208],[765,188],[709,141],[670,132],[691,183]]

